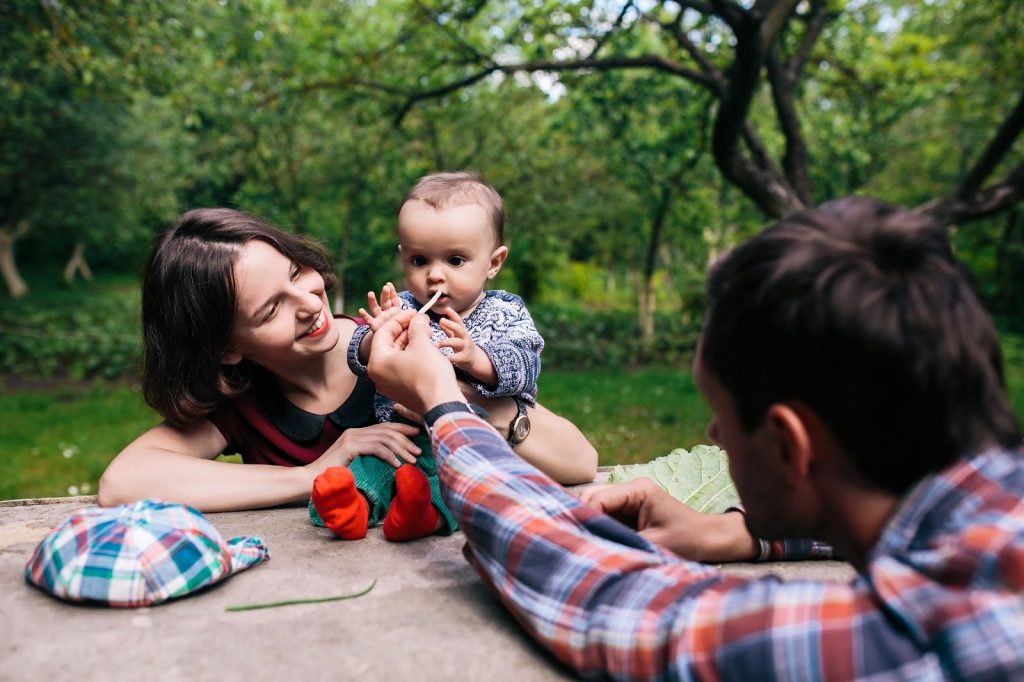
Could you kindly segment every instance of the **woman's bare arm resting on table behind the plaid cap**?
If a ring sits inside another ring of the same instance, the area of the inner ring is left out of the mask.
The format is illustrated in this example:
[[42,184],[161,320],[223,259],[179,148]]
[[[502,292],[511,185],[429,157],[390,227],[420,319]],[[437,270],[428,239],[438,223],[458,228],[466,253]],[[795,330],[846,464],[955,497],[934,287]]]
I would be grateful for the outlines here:
[[273,507],[309,498],[315,477],[310,468],[215,461],[226,444],[207,420],[187,430],[155,426],[106,467],[99,479],[99,504],[106,507],[158,498],[213,512]]

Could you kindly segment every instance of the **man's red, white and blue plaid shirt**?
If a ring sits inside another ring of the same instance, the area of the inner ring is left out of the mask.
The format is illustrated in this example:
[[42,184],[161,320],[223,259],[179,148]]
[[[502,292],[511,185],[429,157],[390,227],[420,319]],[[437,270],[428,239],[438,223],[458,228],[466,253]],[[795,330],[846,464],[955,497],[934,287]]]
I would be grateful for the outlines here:
[[926,478],[850,584],[730,577],[598,514],[469,414],[434,424],[467,555],[586,677],[1024,679],[1024,464],[990,451]]

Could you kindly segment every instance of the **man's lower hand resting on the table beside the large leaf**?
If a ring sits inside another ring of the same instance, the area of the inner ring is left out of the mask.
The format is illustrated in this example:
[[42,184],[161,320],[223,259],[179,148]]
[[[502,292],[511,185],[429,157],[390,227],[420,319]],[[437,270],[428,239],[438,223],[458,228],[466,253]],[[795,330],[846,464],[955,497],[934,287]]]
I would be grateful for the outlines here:
[[649,478],[584,488],[580,499],[691,561],[749,561],[759,547],[739,513],[702,514]]

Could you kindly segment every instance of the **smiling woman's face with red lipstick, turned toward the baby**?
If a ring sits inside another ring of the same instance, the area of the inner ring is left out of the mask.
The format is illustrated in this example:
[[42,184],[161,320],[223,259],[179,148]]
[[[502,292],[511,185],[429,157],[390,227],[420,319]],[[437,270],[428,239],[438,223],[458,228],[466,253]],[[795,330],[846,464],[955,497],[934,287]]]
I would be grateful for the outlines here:
[[319,272],[253,240],[242,248],[233,273],[234,329],[224,363],[245,358],[273,372],[337,345]]

